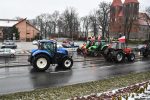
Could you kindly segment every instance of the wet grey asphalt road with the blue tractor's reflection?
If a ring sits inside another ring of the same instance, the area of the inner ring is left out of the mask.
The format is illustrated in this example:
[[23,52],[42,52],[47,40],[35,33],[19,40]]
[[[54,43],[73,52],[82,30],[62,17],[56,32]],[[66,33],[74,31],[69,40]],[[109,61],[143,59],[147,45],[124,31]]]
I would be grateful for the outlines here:
[[150,58],[138,57],[133,63],[120,64],[105,62],[103,57],[76,57],[74,60],[76,61],[72,70],[62,70],[56,66],[51,66],[46,72],[36,72],[32,66],[0,68],[0,94],[85,83],[150,70]]

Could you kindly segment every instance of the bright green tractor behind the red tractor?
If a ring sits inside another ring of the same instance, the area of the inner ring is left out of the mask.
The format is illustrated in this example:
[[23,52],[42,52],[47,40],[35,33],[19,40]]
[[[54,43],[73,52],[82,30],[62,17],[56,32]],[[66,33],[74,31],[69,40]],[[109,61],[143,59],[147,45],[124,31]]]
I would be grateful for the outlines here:
[[88,55],[99,56],[104,53],[105,49],[108,47],[108,44],[105,40],[95,41],[94,45],[88,48]]

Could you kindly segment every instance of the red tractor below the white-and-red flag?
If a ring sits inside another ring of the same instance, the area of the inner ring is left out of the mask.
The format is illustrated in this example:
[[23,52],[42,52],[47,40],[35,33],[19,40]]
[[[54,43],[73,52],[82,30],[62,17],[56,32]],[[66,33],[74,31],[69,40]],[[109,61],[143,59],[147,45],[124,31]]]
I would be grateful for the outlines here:
[[125,58],[132,62],[135,60],[135,54],[131,48],[128,48],[125,42],[113,42],[104,52],[104,58],[107,61],[122,62]]

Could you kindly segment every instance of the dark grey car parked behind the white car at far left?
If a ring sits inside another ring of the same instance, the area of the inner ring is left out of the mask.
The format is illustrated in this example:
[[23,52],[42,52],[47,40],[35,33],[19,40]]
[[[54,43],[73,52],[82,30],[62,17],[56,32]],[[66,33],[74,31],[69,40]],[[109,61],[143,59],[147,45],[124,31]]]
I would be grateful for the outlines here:
[[12,41],[12,40],[4,40],[4,42],[2,43],[1,48],[16,49],[16,48],[17,48],[17,45],[16,45],[15,42]]

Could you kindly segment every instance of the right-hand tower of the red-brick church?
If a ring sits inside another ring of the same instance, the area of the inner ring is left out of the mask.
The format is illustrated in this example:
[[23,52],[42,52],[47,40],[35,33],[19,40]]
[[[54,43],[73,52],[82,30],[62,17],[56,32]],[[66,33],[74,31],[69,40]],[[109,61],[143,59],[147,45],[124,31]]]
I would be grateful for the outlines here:
[[[138,15],[139,15],[139,2],[138,0],[125,0],[123,5],[124,13],[124,34],[129,38],[135,37],[138,32]],[[130,35],[128,35],[130,34]]]

